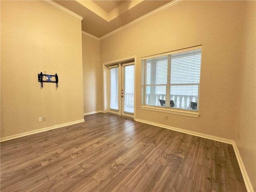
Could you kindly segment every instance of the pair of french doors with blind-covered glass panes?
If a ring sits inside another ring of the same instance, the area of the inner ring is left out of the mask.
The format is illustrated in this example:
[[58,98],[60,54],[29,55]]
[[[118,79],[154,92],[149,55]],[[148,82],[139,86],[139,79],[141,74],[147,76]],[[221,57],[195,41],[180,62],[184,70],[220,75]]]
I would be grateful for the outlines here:
[[110,112],[134,114],[134,62],[110,68]]

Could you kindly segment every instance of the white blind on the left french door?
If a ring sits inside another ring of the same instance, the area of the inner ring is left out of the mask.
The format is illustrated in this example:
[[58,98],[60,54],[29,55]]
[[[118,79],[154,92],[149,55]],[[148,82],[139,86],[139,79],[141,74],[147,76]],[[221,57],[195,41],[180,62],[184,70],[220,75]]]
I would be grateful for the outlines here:
[[118,110],[118,67],[110,68],[110,109]]

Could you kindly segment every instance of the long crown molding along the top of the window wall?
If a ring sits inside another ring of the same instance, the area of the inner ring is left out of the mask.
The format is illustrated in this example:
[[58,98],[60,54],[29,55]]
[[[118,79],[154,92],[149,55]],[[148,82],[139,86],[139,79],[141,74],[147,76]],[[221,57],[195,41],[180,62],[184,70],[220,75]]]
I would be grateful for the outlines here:
[[161,6],[160,8],[158,8],[156,10],[153,10],[153,11],[149,12],[148,14],[145,14],[144,16],[141,16],[140,18],[138,18],[138,19],[136,19],[136,20],[134,20],[134,21],[132,21],[132,22],[130,22],[130,23],[128,23],[128,24],[126,24],[126,25],[124,25],[124,26],[122,26],[122,27],[120,27],[120,28],[118,28],[118,29],[116,29],[116,30],[114,30],[114,31],[104,35],[104,36],[102,36],[100,38],[100,40],[102,40],[104,38],[107,38],[107,37],[109,37],[109,36],[111,36],[111,35],[113,35],[113,34],[115,34],[117,32],[120,32],[121,30],[124,30],[125,28],[128,28],[128,27],[130,27],[130,26],[132,26],[132,25],[134,25],[134,24],[136,24],[136,23],[138,23],[138,22],[140,22],[140,21],[142,21],[142,20],[144,20],[144,19],[146,19],[146,18],[156,14],[156,13],[159,13],[159,12],[161,12],[161,11],[163,11],[163,10],[165,10],[165,9],[167,9],[167,8],[177,4],[179,2],[182,2],[182,0],[173,0],[170,3],[167,3],[167,4],[163,5],[163,6]]

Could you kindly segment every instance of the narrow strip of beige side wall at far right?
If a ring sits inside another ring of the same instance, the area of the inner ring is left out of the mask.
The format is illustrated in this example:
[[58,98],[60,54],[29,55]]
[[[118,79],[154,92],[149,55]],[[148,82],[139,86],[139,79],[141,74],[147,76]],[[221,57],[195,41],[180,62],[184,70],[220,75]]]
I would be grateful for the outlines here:
[[[256,191],[256,1],[246,2],[239,67],[236,138],[240,155]],[[245,144],[243,144],[245,142]]]

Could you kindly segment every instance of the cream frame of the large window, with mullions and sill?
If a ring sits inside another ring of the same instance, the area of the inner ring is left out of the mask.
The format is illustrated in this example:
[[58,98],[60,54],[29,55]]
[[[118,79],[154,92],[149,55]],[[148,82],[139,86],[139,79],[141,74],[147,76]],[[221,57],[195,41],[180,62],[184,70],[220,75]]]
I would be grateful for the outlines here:
[[[194,46],[190,48],[185,48],[185,49],[180,49],[180,50],[175,50],[171,52],[166,52],[162,54],[156,54],[152,56],[147,56],[147,57],[142,57],[141,60],[146,60],[150,58],[156,58],[160,56],[168,56],[168,72],[167,72],[167,83],[166,83],[166,99],[165,100],[170,100],[170,89],[171,86],[177,86],[179,84],[172,84],[171,82],[168,82],[170,80],[170,71],[171,71],[171,64],[170,64],[170,56],[172,54],[177,54],[181,52],[187,52],[187,51],[192,51],[192,50],[197,50],[201,49],[201,63],[200,63],[200,80],[201,80],[201,66],[202,66],[202,45],[200,46]],[[142,72],[144,72],[145,69],[142,69]],[[141,76],[143,78],[143,76]],[[187,85],[187,84],[180,84],[180,85]],[[200,95],[200,82],[198,84],[189,84],[189,85],[198,85],[198,98],[197,100],[199,101],[199,95]],[[189,116],[189,117],[194,117],[198,118],[200,116],[199,114],[199,102],[197,106],[197,110],[191,110],[191,109],[182,109],[182,108],[171,108],[169,106],[169,102],[166,102],[166,106],[153,106],[153,105],[146,105],[145,103],[145,98],[146,98],[146,87],[147,86],[154,86],[154,85],[147,85],[146,83],[146,76],[144,76],[144,79],[141,79],[141,106],[140,109],[142,110],[149,110],[149,111],[155,111],[155,112],[162,112],[162,113],[168,113],[168,114],[176,114],[176,115],[182,115],[182,116]],[[157,84],[155,86],[158,86]],[[169,93],[169,94],[167,94]],[[143,96],[142,96],[143,94]],[[143,99],[143,100],[142,100]]]

